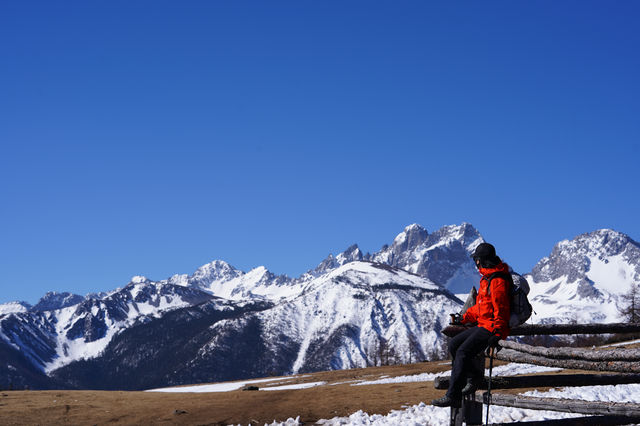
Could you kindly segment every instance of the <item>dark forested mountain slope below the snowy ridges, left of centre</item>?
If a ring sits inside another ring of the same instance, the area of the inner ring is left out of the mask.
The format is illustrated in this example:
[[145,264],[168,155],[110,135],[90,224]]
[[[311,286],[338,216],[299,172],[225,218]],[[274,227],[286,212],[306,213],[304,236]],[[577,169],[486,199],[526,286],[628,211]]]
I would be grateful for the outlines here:
[[216,323],[271,306],[211,299],[176,309],[124,329],[100,356],[70,363],[50,375],[74,388],[123,390],[246,377],[235,364],[237,360],[251,363],[259,353],[251,351],[249,336],[239,335],[242,338],[233,348],[223,348],[226,352],[217,364],[201,363],[199,351],[216,337],[212,329]]

